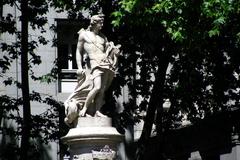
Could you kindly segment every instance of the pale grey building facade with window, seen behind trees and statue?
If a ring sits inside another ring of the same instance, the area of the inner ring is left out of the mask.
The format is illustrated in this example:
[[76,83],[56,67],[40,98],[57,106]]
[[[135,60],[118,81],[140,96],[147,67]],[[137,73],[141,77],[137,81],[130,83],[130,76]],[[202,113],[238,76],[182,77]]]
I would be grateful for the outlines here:
[[[1,16],[6,16],[7,14],[12,14],[13,18],[16,21],[16,28],[18,31],[21,31],[21,22],[19,17],[21,12],[19,11],[16,5],[1,6]],[[87,16],[87,14],[86,14]],[[49,12],[46,15],[48,22],[44,26],[46,30],[45,33],[41,33],[40,30],[32,30],[29,27],[29,40],[37,40],[38,36],[43,36],[46,40],[49,41],[47,45],[39,45],[35,50],[35,53],[41,56],[42,63],[33,67],[34,74],[36,76],[46,75],[55,65],[55,60],[58,59],[58,67],[61,70],[61,73],[58,75],[58,79],[51,83],[41,83],[39,81],[34,81],[31,78],[30,80],[30,93],[36,91],[41,95],[53,96],[56,100],[64,102],[69,94],[73,92],[76,84],[76,60],[75,60],[75,51],[78,40],[78,31],[81,28],[86,28],[89,22],[79,22],[74,20],[67,19],[67,13],[56,12],[53,8],[49,8]],[[55,30],[51,30],[51,26],[55,26]],[[11,44],[16,42],[16,35],[11,35],[8,33],[1,33],[0,41]],[[57,45],[53,46],[52,41],[57,40]],[[7,55],[3,53],[2,56]],[[21,64],[20,58],[17,58],[12,62],[10,69],[4,74],[4,77],[1,78],[0,83],[0,94],[8,95],[11,97],[21,97],[21,90],[14,85],[5,86],[2,82],[5,78],[12,77],[16,81],[21,81]],[[126,91],[123,91],[126,92]],[[127,96],[124,98],[119,98],[119,103],[123,102],[123,99],[126,100]],[[31,112],[33,115],[38,115],[43,113],[48,109],[48,106],[38,103],[31,102]],[[119,108],[121,111],[121,108]],[[2,124],[3,125],[3,121]],[[129,134],[130,136],[130,134]],[[130,138],[131,139],[131,138]],[[0,133],[0,140],[3,140],[3,135]],[[20,142],[17,142],[20,145]],[[51,142],[50,145],[45,146],[46,155],[43,156],[43,159],[59,160],[63,159],[60,156],[59,142]],[[122,149],[121,149],[122,148]],[[127,159],[127,156],[124,155],[124,147],[121,144],[120,152],[124,156],[124,159]],[[1,159],[1,158],[0,158]]]

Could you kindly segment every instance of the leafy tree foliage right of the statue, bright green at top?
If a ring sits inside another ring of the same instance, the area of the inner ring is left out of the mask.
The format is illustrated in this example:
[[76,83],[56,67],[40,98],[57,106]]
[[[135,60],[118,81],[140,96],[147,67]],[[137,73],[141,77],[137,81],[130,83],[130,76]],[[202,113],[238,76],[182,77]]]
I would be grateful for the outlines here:
[[[125,38],[133,41],[131,48],[135,45],[141,52],[137,55],[141,61],[137,62],[140,72],[135,84],[137,96],[143,97],[140,110],[148,106],[157,70],[166,69],[154,62],[162,58],[171,64],[161,92],[162,98],[171,101],[168,118],[172,123],[175,119],[178,124],[182,113],[195,122],[237,107],[237,1],[120,0],[118,4],[112,13],[112,24],[119,30],[125,29]],[[126,47],[126,52],[129,49]],[[235,96],[228,94],[230,90],[234,90]]]

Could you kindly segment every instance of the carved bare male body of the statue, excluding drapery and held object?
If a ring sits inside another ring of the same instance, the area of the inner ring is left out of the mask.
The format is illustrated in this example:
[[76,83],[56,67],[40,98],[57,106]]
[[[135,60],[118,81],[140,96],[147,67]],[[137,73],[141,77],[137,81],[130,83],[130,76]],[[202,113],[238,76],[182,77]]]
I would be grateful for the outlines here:
[[103,116],[103,114],[99,112],[99,109],[102,105],[104,91],[107,88],[106,85],[111,83],[113,78],[112,76],[108,76],[108,71],[105,71],[105,69],[101,68],[99,65],[101,60],[106,57],[105,48],[107,39],[102,33],[100,33],[102,26],[103,17],[97,15],[92,17],[89,30],[79,35],[76,52],[78,72],[83,71],[82,55],[86,54],[88,56],[87,60],[89,61],[87,67],[90,70],[93,79],[93,89],[88,93],[79,116],[85,116],[90,103],[95,103],[96,105],[96,116]]

